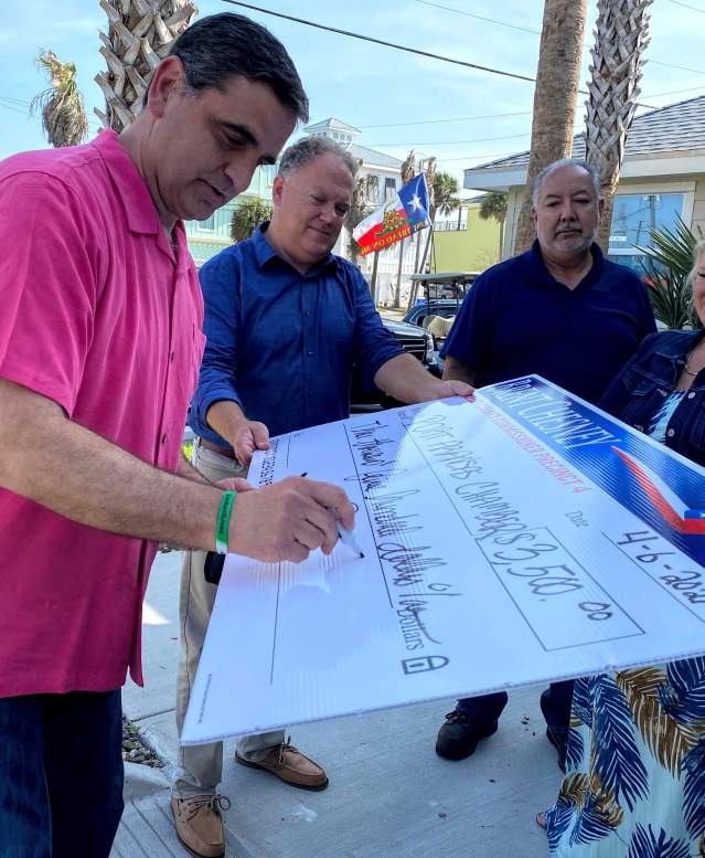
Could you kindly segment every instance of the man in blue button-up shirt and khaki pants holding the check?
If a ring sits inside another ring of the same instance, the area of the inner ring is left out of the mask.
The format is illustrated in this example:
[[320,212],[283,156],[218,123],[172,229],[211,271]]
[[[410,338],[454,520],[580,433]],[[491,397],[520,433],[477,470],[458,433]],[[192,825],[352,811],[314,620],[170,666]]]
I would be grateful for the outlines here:
[[[270,223],[201,271],[206,347],[189,423],[199,436],[194,464],[210,479],[237,473],[268,446],[270,433],[346,417],[353,363],[402,402],[472,392],[462,381],[439,381],[405,354],[360,271],[331,253],[355,171],[351,156],[325,138],[290,147],[274,182]],[[215,597],[203,562],[199,552],[184,560],[180,728]],[[284,739],[281,731],[247,737],[236,760],[295,786],[325,787],[325,772]],[[217,801],[222,743],[182,748],[181,765],[178,797]]]

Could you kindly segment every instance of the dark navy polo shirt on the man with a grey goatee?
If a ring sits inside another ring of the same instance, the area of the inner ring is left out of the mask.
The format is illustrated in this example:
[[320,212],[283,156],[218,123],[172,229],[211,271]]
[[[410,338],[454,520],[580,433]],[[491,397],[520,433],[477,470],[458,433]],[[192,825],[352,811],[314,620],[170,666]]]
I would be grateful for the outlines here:
[[538,242],[472,285],[441,350],[478,386],[536,373],[597,402],[641,340],[655,330],[647,286],[592,244],[591,269],[569,289],[546,268]]

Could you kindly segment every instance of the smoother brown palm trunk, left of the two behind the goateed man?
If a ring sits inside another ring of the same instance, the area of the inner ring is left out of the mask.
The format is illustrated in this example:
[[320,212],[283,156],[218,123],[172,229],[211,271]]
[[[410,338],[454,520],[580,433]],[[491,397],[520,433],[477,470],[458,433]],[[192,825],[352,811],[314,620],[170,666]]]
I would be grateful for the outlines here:
[[534,91],[531,155],[526,190],[519,215],[514,253],[534,241],[531,192],[536,173],[552,161],[569,158],[578,98],[587,0],[545,0]]

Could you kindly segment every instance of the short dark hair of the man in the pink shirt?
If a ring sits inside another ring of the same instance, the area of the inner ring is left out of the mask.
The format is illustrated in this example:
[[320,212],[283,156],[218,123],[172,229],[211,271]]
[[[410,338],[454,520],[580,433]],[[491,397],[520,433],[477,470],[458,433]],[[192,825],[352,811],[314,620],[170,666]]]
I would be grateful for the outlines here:
[[191,89],[223,89],[235,76],[261,82],[284,107],[308,121],[309,99],[286,47],[249,18],[233,12],[201,18],[175,40],[169,56],[181,60]]

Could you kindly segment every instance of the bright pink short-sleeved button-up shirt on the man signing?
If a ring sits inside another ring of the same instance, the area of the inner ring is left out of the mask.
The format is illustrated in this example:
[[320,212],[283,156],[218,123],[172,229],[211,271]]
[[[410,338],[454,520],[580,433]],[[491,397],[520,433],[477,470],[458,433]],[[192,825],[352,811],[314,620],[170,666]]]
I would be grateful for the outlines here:
[[[0,378],[174,470],[203,351],[203,301],[135,165],[105,131],[0,163]],[[4,455],[23,444],[0,438]],[[55,451],[61,458],[62,451]],[[156,544],[0,489],[0,697],[141,684]]]

